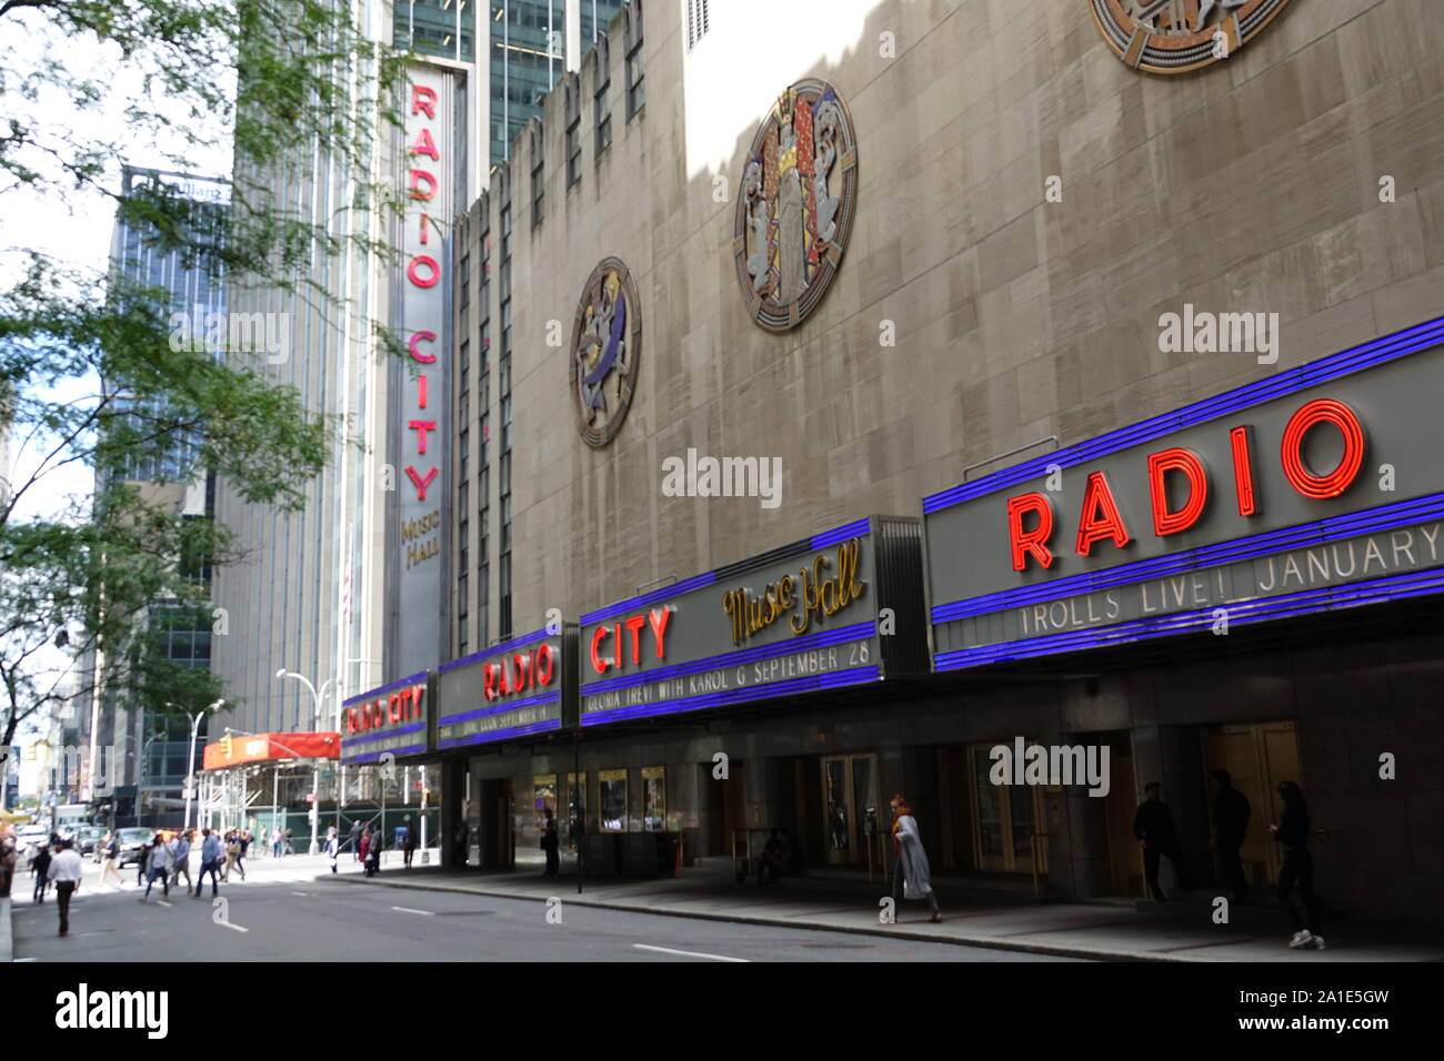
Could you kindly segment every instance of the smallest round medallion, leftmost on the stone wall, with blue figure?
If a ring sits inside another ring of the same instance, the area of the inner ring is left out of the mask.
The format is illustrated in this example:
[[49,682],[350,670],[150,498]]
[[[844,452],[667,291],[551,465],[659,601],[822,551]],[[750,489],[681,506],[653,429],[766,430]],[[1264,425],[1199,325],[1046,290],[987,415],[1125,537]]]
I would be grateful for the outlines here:
[[621,258],[592,270],[572,325],[572,406],[591,446],[611,442],[627,419],[641,362],[641,302]]

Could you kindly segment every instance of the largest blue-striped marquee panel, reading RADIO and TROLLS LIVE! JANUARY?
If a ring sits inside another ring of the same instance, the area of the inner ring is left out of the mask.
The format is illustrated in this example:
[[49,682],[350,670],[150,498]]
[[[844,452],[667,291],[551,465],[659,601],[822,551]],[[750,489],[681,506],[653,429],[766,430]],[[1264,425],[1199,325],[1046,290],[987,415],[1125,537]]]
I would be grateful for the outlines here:
[[1444,318],[926,498],[934,667],[1444,592]]

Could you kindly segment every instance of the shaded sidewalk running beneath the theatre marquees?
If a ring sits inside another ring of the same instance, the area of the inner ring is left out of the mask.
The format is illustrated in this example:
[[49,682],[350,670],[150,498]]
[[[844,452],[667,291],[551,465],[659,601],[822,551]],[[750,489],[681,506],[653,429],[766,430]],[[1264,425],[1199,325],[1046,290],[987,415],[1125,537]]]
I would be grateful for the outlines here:
[[[339,878],[338,878],[339,879]],[[812,885],[806,878],[784,878],[775,888],[760,889],[683,870],[676,879],[588,881],[580,895],[576,878],[542,879],[516,873],[456,872],[387,865],[380,876],[347,873],[347,883],[380,888],[465,892],[500,898],[536,899],[556,895],[585,907],[669,914],[758,925],[823,928],[839,933],[894,935],[933,943],[957,943],[1066,957],[1126,961],[1438,961],[1444,938],[1406,928],[1336,921],[1326,924],[1328,950],[1289,950],[1292,934],[1272,892],[1253,907],[1236,908],[1232,924],[1216,925],[1206,902],[1155,904],[1034,902],[998,895],[939,899],[943,922],[927,920],[927,907],[907,902],[898,924],[878,922],[881,885],[871,888]],[[1261,889],[1262,891],[1262,889]]]

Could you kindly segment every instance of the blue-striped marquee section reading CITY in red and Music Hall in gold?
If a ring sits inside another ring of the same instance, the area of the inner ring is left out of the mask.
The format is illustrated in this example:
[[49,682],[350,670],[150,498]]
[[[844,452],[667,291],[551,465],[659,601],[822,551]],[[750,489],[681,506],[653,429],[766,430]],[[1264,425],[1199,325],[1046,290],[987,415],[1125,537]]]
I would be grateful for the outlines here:
[[904,661],[902,642],[921,641],[879,637],[879,609],[902,616],[907,595],[882,577],[878,553],[911,549],[915,564],[917,546],[915,520],[859,520],[583,615],[580,723],[882,678]]

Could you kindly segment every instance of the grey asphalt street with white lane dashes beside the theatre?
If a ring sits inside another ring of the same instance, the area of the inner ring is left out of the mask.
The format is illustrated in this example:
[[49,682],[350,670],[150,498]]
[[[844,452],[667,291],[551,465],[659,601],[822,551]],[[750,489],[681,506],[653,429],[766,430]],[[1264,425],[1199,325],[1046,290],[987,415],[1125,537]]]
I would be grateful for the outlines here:
[[[342,860],[347,875],[355,863]],[[137,902],[134,869],[117,891],[87,879],[56,937],[53,898],[29,899],[16,878],[17,961],[1060,961],[956,944],[744,925],[482,895],[316,881],[325,860],[247,860],[250,879],[221,885],[212,904],[172,889],[169,905]],[[192,870],[193,872],[193,870]],[[553,908],[552,918],[557,917]]]

